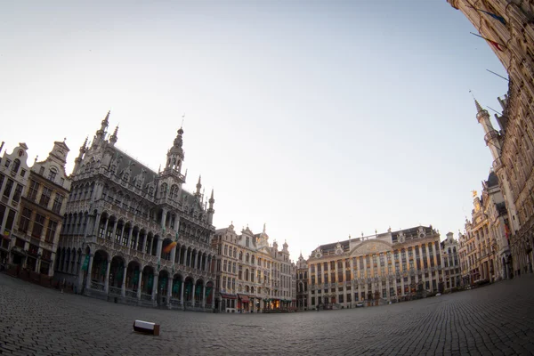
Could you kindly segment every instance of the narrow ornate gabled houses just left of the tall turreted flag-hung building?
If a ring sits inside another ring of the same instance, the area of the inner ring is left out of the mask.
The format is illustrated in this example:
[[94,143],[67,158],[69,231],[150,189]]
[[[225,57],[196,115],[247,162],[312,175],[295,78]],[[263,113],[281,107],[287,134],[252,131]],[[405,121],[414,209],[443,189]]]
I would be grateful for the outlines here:
[[513,266],[507,223],[505,198],[497,174],[491,171],[482,182],[481,196],[473,191],[471,220],[465,222],[465,235],[459,240],[465,286],[510,278]]

